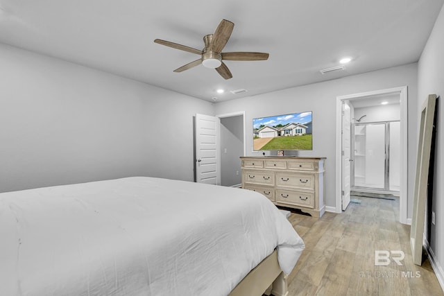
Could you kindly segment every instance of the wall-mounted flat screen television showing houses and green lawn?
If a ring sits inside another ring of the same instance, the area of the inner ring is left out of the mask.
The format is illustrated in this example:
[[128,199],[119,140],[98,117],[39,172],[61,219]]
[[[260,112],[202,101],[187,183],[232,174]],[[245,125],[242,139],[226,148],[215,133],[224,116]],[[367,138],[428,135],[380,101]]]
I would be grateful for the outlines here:
[[253,119],[253,150],[313,150],[311,111]]

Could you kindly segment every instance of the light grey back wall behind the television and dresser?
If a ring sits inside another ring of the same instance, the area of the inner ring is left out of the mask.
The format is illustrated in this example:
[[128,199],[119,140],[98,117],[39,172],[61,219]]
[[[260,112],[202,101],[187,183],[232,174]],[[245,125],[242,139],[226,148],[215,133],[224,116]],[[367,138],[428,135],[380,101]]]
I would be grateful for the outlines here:
[[[352,65],[350,65],[352,67]],[[418,92],[416,63],[373,71],[361,75],[348,76],[327,82],[282,89],[277,92],[250,96],[237,100],[216,103],[216,114],[246,111],[246,130],[253,130],[253,118],[272,116],[290,112],[313,112],[313,150],[300,151],[300,156],[327,157],[325,173],[325,195],[327,207],[336,207],[335,184],[335,143],[336,143],[336,96],[370,92],[378,89],[408,86],[409,128],[416,130],[416,95]],[[321,74],[320,74],[321,75]],[[253,153],[253,139],[247,137],[247,155]],[[416,139],[409,138],[409,147],[416,145]],[[409,160],[416,154],[409,150]],[[409,202],[411,202],[414,164],[409,162]],[[412,173],[413,172],[413,173]],[[411,208],[409,212],[411,216]]]

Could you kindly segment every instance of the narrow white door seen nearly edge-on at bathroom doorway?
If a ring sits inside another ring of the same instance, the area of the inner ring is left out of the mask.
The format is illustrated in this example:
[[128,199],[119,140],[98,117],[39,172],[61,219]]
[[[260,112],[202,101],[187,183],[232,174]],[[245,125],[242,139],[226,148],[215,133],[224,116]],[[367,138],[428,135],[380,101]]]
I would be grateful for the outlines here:
[[342,104],[342,210],[345,211],[350,203],[351,109],[348,102]]

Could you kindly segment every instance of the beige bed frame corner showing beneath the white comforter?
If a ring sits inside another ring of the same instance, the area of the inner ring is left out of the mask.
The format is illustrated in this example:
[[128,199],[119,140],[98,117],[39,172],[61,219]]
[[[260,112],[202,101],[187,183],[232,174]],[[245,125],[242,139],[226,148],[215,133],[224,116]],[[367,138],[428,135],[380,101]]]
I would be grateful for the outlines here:
[[274,250],[231,291],[228,296],[288,296],[287,275],[279,267],[278,251]]

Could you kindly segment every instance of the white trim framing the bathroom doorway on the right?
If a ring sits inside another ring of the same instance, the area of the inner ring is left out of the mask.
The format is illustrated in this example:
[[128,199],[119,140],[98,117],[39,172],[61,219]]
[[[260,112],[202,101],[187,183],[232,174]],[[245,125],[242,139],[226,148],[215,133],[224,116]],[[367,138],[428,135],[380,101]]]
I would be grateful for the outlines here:
[[401,124],[401,180],[400,180],[400,223],[411,224],[411,219],[407,219],[407,86],[394,87],[391,89],[381,89],[374,92],[363,92],[359,94],[350,94],[346,96],[336,97],[336,213],[341,213],[341,190],[342,190],[342,166],[341,166],[341,150],[342,150],[342,135],[341,135],[341,112],[342,101],[344,100],[358,100],[361,98],[368,98],[369,96],[379,96],[385,94],[399,94],[400,96],[400,124]]

